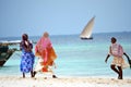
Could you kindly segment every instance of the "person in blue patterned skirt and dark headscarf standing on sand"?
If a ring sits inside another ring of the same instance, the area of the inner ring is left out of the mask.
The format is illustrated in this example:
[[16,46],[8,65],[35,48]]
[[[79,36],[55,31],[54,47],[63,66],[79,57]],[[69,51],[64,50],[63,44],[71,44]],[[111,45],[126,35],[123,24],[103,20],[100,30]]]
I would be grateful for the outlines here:
[[22,50],[22,58],[21,58],[21,72],[23,73],[23,78],[25,78],[25,73],[31,72],[31,77],[33,75],[33,65],[34,65],[34,53],[32,51],[33,45],[28,40],[27,34],[22,35],[22,41],[20,44],[20,50]]

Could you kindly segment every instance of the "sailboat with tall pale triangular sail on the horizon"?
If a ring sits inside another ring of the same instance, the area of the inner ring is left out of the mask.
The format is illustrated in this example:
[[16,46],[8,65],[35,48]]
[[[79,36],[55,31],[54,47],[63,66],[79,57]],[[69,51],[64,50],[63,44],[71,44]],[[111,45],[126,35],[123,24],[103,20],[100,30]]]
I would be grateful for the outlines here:
[[92,17],[91,21],[87,23],[87,25],[84,27],[83,32],[80,35],[81,39],[93,39],[92,30],[94,26],[94,20],[95,20],[95,16]]

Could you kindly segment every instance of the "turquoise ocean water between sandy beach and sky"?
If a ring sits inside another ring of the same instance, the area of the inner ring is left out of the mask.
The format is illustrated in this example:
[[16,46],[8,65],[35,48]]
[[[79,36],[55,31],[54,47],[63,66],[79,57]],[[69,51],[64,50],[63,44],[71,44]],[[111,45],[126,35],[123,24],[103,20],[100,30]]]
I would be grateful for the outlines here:
[[[55,73],[58,76],[116,76],[117,74],[110,70],[112,57],[105,63],[112,36],[131,58],[131,32],[93,34],[93,40],[81,40],[79,35],[50,36],[58,55]],[[21,37],[0,38],[3,39],[17,40]],[[37,41],[39,37],[29,39]],[[10,48],[19,48],[19,45]],[[21,75],[20,55],[21,52],[14,52],[4,66],[0,67],[0,75]],[[127,58],[124,59],[127,61]],[[37,58],[35,64],[36,62]],[[123,76],[131,77],[130,67],[123,70]]]

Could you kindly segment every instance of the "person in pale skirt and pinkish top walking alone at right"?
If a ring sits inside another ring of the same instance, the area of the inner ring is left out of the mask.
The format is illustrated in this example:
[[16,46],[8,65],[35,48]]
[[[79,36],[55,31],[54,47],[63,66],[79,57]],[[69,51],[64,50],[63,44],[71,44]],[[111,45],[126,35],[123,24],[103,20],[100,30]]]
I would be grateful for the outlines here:
[[130,67],[131,67],[131,60],[129,59],[128,54],[123,52],[121,45],[117,44],[117,39],[115,37],[111,38],[111,46],[109,48],[109,54],[107,55],[105,62],[107,62],[110,55],[114,57],[114,61],[110,65],[111,70],[118,74],[118,79],[122,79],[122,69],[129,66],[128,63],[123,60],[122,55],[128,58]]

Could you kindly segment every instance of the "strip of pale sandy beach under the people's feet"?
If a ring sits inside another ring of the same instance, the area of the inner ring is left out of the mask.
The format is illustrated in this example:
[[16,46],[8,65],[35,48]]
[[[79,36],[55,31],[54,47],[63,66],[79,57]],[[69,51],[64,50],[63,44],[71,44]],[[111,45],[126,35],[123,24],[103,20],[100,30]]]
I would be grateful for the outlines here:
[[0,87],[130,87],[131,78],[0,76]]

